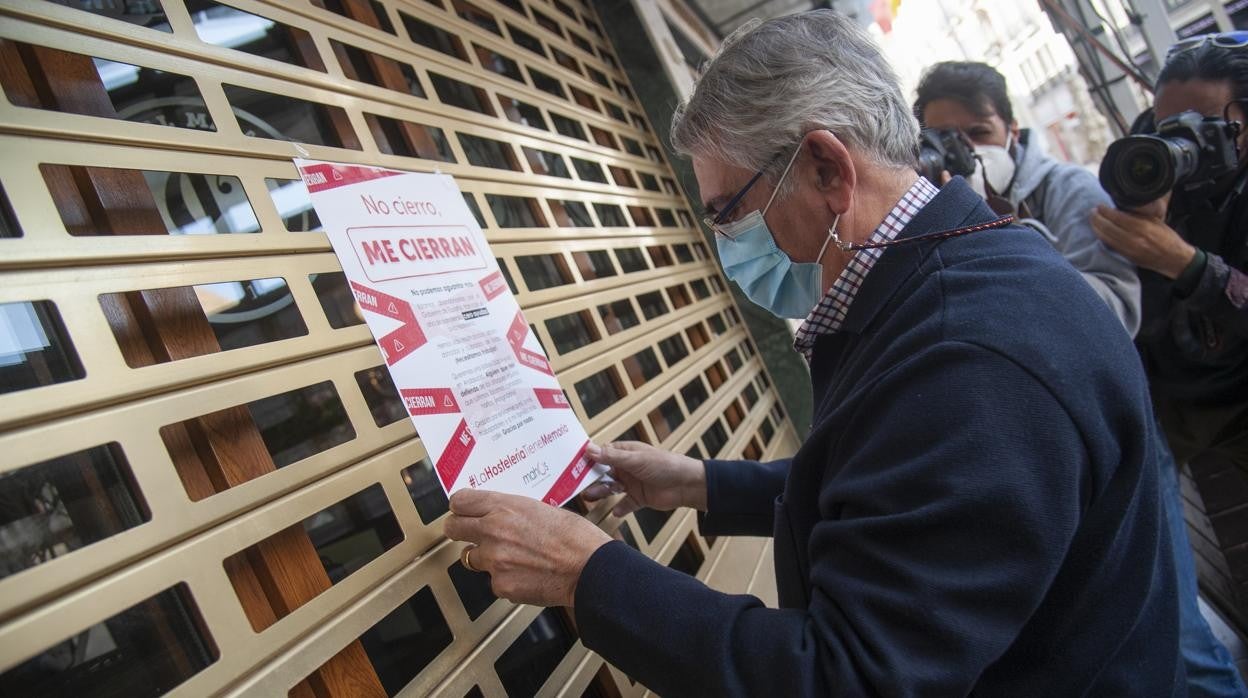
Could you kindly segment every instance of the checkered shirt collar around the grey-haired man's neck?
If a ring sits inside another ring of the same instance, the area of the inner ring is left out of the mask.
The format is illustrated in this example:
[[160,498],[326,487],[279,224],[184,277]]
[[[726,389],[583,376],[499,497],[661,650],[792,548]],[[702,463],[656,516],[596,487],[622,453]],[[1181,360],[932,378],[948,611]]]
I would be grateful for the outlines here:
[[[906,224],[915,217],[915,214],[920,209],[935,199],[937,192],[938,190],[931,182],[925,177],[919,177],[910,186],[910,190],[901,196],[901,200],[892,207],[892,211],[889,211],[889,215],[884,217],[880,227],[875,229],[875,232],[867,238],[867,243],[896,240],[901,230],[906,227]],[[871,267],[875,266],[876,260],[884,255],[884,247],[876,247],[854,252],[854,256],[850,257],[850,263],[841,271],[832,287],[827,290],[827,293],[819,301],[815,310],[810,311],[805,322],[797,328],[797,336],[794,338],[792,347],[800,351],[807,362],[815,348],[815,340],[841,328],[845,316],[850,312],[850,303],[854,302],[854,296],[862,287],[862,281],[866,278],[867,272],[871,271]]]

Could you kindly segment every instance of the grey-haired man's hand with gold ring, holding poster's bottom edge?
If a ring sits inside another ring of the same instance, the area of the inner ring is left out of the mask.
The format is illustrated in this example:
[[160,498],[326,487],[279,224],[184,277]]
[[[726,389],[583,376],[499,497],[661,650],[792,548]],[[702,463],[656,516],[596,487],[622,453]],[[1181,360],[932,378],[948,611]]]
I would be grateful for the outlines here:
[[475,569],[494,596],[515,603],[572,607],[580,571],[612,537],[569,511],[537,499],[463,489],[451,497],[446,534],[477,547]]

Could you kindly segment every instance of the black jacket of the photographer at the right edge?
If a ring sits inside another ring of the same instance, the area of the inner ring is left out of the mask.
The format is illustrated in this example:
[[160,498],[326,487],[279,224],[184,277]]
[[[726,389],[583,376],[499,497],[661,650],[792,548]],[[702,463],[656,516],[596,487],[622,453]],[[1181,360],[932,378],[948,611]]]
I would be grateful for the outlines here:
[[1139,272],[1144,321],[1136,343],[1154,401],[1248,406],[1248,195],[1236,199],[1218,214],[1208,197],[1176,196],[1167,222],[1199,250],[1197,258],[1174,281]]

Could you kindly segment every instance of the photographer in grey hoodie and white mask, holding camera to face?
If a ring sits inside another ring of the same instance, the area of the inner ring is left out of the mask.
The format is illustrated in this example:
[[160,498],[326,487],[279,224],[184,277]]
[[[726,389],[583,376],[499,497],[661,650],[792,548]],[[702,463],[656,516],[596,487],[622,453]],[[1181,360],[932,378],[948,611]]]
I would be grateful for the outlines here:
[[1096,290],[1131,335],[1139,327],[1139,281],[1131,262],[1092,233],[1088,212],[1109,204],[1091,172],[1058,162],[1018,129],[1006,79],[982,62],[945,61],[919,84],[924,125],[920,174],[942,184],[962,175],[998,214],[1040,231]]

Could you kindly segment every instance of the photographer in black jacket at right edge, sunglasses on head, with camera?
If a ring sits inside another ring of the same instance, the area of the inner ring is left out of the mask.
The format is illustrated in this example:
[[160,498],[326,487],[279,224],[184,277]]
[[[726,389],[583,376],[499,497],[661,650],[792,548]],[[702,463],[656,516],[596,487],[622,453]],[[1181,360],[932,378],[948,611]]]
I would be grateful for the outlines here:
[[[1141,267],[1136,346],[1173,461],[1162,458],[1179,573],[1182,651],[1192,696],[1243,696],[1231,657],[1197,606],[1177,466],[1221,458],[1248,469],[1248,32],[1171,49],[1157,81],[1156,134],[1114,142],[1101,182],[1118,210],[1092,227]],[[1144,127],[1153,126],[1144,120]]]

